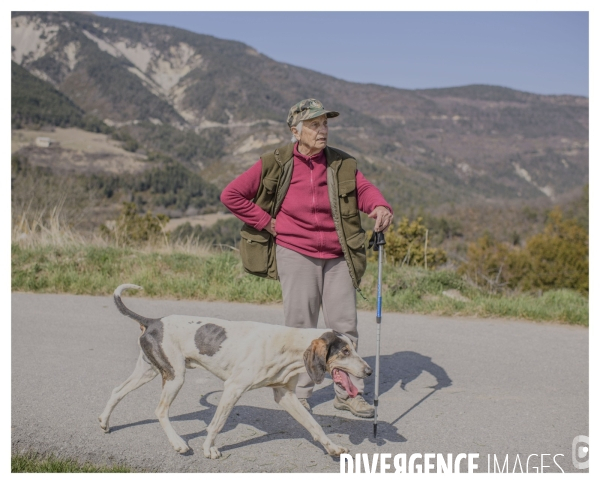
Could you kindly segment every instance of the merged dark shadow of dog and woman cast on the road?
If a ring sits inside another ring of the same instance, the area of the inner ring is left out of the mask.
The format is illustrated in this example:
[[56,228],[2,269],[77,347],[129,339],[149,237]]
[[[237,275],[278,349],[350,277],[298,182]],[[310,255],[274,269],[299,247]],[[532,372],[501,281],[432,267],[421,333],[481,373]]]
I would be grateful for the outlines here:
[[[375,368],[374,356],[366,357],[365,361],[367,361],[367,363],[369,363],[373,369]],[[400,388],[405,390],[406,385],[419,377],[419,375],[421,375],[423,372],[430,373],[437,381],[436,385],[431,387],[432,391],[425,397],[421,398],[421,400],[419,400],[408,410],[404,411],[393,422],[389,423],[378,419],[377,439],[373,437],[373,419],[359,419],[351,416],[350,414],[348,414],[349,418],[339,417],[336,415],[320,415],[318,409],[315,409],[313,417],[319,423],[319,425],[321,425],[326,434],[346,434],[353,445],[359,445],[365,440],[368,440],[372,443],[381,443],[382,441],[406,442],[406,439],[398,432],[398,429],[394,426],[394,424],[407,415],[412,409],[422,404],[435,391],[450,386],[452,384],[452,380],[450,380],[446,371],[442,367],[431,361],[430,357],[423,356],[419,353],[402,351],[394,353],[393,355],[380,356],[380,397],[386,392],[390,391],[398,382],[400,382]],[[374,380],[374,376],[366,380],[365,394],[370,396],[373,395]],[[178,422],[200,420],[204,421],[208,425],[208,423],[212,420],[216,409],[216,405],[208,401],[212,393],[216,392],[211,392],[207,395],[203,395],[200,398],[200,405],[206,408],[196,412],[173,416],[171,417],[171,421]],[[315,407],[321,403],[330,401],[333,398],[333,386],[327,385],[316,390],[309,401],[310,404]],[[111,432],[117,432],[128,427],[151,423],[158,423],[158,420],[146,419],[129,424],[118,425],[112,427]],[[221,432],[233,430],[237,428],[239,424],[245,424],[249,426],[249,428],[245,431],[245,435],[242,436],[242,438],[248,438],[235,444],[223,445],[220,447],[221,451],[233,450],[239,447],[277,439],[288,440],[303,438],[309,442],[313,442],[308,431],[283,409],[273,410],[249,405],[236,405]],[[255,436],[257,433],[260,435]],[[181,437],[189,443],[191,440],[194,440],[205,434],[206,428],[199,432],[182,435]],[[332,440],[336,441],[335,437]],[[319,444],[316,442],[314,445],[319,446]]]

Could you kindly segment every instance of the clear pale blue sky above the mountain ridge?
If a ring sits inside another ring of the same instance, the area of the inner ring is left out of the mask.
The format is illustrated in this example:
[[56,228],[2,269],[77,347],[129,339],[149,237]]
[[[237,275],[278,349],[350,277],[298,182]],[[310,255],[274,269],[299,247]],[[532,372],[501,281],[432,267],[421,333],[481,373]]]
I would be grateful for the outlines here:
[[238,40],[348,81],[589,92],[587,12],[95,13]]

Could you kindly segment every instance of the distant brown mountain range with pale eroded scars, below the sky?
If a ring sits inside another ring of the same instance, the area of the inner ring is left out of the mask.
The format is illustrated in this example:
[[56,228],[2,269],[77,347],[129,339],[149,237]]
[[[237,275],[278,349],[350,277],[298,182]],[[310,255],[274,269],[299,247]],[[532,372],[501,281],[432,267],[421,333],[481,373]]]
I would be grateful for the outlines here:
[[151,146],[169,152],[169,129],[201,136],[189,161],[220,185],[286,143],[287,111],[309,97],[341,113],[330,144],[398,208],[550,201],[588,181],[584,97],[357,84],[239,42],[77,13],[13,13],[12,60]]

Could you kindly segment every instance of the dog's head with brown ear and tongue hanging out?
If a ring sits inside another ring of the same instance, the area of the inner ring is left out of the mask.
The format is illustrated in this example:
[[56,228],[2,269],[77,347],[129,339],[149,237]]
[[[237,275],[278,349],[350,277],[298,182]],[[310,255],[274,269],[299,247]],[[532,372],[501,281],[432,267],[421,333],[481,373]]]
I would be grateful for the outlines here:
[[356,352],[356,347],[348,336],[337,331],[327,331],[313,340],[304,352],[304,366],[315,383],[321,383],[325,373],[331,373],[333,381],[344,388],[350,396],[358,390],[348,374],[366,378],[373,370]]

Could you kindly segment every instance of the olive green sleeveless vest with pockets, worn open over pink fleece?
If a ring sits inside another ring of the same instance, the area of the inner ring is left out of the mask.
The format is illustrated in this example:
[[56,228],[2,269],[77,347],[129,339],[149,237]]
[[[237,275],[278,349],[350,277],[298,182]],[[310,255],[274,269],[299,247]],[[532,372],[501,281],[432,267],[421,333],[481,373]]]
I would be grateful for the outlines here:
[[[275,218],[292,181],[294,145],[290,143],[261,156],[260,186],[254,197],[265,212]],[[329,146],[327,159],[327,190],[335,230],[356,289],[367,267],[365,231],[360,224],[356,200],[356,160],[349,154]],[[241,230],[240,253],[246,272],[277,280],[275,241],[266,230],[256,230],[244,224]]]

